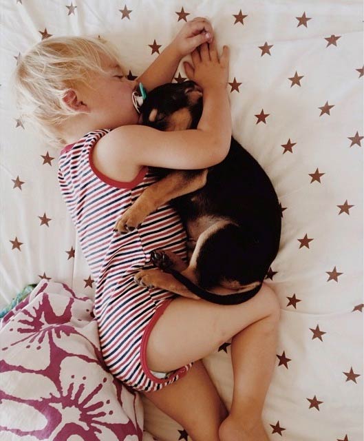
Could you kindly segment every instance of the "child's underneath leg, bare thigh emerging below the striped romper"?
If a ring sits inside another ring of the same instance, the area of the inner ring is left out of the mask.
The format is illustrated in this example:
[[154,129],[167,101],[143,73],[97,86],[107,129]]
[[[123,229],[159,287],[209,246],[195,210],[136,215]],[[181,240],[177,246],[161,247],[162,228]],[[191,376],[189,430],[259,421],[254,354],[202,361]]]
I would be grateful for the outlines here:
[[143,394],[177,421],[194,441],[219,440],[219,427],[228,411],[201,360],[180,380]]

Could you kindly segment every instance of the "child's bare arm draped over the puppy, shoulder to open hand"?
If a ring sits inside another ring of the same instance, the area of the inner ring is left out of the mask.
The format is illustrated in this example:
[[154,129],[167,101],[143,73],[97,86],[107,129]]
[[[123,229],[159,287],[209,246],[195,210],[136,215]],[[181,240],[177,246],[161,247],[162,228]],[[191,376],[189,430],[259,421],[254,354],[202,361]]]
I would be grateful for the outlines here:
[[192,52],[186,74],[203,89],[203,111],[195,130],[161,132],[144,125],[123,125],[98,141],[93,151],[96,168],[116,181],[136,176],[142,165],[182,170],[211,167],[228,154],[231,112],[226,85],[228,48],[219,60],[215,42]]

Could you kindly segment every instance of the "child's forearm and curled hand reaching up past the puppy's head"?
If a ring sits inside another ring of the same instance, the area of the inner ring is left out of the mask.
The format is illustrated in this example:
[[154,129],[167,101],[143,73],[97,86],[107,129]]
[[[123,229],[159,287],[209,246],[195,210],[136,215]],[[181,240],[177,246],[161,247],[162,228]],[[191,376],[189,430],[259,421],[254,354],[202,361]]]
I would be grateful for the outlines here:
[[138,81],[147,91],[158,85],[171,83],[180,60],[200,44],[211,43],[212,40],[213,28],[206,19],[197,17],[189,21],[162,54],[139,76]]

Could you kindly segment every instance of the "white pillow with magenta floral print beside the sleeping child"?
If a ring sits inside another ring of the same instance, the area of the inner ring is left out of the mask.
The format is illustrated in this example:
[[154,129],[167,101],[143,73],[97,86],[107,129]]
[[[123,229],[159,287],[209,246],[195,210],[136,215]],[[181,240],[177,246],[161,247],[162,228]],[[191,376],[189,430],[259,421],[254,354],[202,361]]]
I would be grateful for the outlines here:
[[105,368],[92,309],[42,280],[3,318],[1,440],[152,440],[140,397]]

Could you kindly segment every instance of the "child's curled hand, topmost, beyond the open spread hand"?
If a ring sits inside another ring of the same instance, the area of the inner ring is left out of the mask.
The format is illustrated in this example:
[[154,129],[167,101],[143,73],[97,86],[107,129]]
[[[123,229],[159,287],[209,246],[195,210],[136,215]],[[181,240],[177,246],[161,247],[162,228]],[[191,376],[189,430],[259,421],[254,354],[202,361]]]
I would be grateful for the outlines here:
[[183,26],[171,45],[175,46],[182,58],[202,43],[212,43],[212,41],[213,27],[211,23],[203,17],[196,17]]

